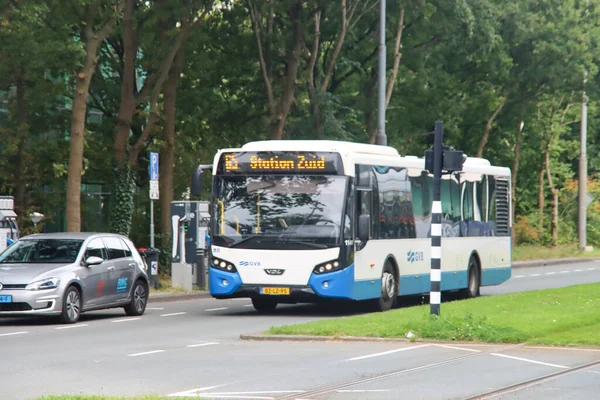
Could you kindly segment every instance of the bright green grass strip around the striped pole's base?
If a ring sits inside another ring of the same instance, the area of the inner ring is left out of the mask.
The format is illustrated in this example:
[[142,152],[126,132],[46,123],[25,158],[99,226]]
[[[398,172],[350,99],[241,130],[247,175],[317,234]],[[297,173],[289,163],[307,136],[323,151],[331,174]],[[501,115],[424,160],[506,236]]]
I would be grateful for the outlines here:
[[300,325],[272,327],[267,334],[362,336],[600,346],[600,283],[442,303]]

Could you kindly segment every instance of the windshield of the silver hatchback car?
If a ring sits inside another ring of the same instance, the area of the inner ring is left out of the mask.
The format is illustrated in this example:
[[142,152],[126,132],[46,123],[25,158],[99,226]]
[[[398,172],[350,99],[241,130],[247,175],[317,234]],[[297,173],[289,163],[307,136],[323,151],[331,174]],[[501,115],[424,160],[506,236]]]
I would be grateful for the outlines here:
[[81,239],[23,239],[0,254],[0,264],[72,263],[82,244]]

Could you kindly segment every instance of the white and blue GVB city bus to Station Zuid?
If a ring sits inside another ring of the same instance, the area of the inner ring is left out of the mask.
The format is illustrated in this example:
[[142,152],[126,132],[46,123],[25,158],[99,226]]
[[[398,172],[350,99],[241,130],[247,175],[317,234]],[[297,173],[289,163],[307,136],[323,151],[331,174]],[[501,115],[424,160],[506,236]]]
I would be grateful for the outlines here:
[[[429,293],[433,175],[424,158],[273,140],[221,149],[211,167],[212,297],[250,298],[259,312],[327,300],[386,311],[399,296]],[[442,175],[442,292],[476,297],[510,279],[510,178],[509,168],[470,157]]]

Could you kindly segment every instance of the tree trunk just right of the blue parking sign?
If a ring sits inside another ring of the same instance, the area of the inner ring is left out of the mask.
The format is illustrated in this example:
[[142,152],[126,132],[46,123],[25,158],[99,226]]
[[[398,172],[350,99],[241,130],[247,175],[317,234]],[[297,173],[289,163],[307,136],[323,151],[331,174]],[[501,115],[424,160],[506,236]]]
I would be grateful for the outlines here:
[[[169,71],[169,77],[164,84],[164,115],[165,125],[163,129],[163,146],[161,149],[160,162],[160,227],[162,253],[171,254],[171,202],[173,201],[173,174],[175,168],[175,121],[176,121],[176,95],[177,82],[183,66],[184,48],[181,48],[173,67]],[[170,256],[163,257],[163,271],[170,270]],[[167,261],[167,265],[165,265]]]

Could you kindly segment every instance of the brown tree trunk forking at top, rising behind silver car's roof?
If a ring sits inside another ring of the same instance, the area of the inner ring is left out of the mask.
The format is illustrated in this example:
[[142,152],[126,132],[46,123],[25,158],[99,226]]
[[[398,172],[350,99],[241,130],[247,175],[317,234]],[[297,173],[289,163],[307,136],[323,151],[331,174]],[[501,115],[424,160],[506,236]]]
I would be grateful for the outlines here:
[[86,7],[86,22],[83,29],[85,60],[75,81],[75,95],[73,96],[73,108],[71,110],[71,144],[67,171],[67,232],[81,231],[81,175],[83,172],[87,99],[92,76],[98,63],[98,48],[100,43],[112,32],[116,14],[99,32],[94,32],[96,10],[91,5]]

